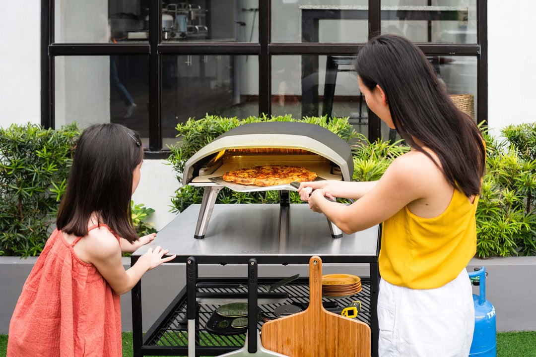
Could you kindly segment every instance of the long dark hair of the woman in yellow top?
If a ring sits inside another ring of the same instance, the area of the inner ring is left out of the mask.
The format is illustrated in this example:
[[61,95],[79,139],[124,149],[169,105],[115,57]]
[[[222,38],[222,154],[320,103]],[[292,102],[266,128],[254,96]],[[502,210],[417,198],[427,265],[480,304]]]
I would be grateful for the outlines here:
[[467,197],[478,195],[486,166],[482,136],[452,102],[422,51],[404,37],[377,36],[359,51],[355,70],[367,88],[383,89],[400,136],[436,163],[414,139],[429,147],[453,187]]

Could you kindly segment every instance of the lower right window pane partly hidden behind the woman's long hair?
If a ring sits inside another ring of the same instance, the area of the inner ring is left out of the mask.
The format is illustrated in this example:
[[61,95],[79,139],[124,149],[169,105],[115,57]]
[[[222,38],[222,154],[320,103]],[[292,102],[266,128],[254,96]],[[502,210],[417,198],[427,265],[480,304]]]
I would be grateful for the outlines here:
[[[458,102],[458,108],[462,108],[467,115],[477,120],[477,57],[471,56],[427,56],[428,61],[434,68],[437,77],[446,86],[449,95],[470,94],[463,102]],[[456,102],[456,101],[455,101]],[[470,107],[473,105],[474,111]],[[384,140],[400,139],[400,136],[382,121],[382,138]]]

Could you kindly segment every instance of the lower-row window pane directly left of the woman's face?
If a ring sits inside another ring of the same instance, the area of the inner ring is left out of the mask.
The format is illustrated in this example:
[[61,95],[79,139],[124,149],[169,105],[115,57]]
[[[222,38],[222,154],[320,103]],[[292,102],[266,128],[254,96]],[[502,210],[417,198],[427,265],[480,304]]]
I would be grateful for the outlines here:
[[272,115],[349,117],[368,135],[368,113],[353,56],[273,56]]

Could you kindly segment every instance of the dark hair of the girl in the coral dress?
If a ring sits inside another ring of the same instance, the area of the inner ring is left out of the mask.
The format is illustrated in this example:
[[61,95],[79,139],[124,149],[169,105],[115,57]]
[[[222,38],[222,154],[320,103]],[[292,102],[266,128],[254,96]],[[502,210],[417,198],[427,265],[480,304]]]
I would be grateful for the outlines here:
[[118,236],[138,239],[132,226],[132,174],[143,159],[139,135],[119,124],[88,127],[78,140],[67,189],[59,205],[58,230],[84,237],[93,212]]

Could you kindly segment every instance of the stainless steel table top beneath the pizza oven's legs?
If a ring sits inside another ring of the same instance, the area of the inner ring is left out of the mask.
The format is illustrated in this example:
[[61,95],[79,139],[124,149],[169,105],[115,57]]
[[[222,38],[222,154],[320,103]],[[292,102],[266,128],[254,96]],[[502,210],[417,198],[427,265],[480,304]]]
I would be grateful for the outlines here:
[[[193,238],[199,204],[185,209],[157,234],[149,247],[160,245],[178,257],[375,257],[379,226],[331,238],[326,217],[307,204],[291,204],[289,236],[280,238],[279,204],[215,204],[204,239]],[[184,259],[181,259],[184,261]],[[304,260],[307,262],[307,260]]]

